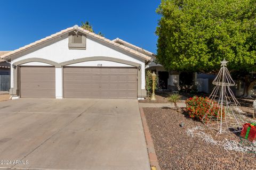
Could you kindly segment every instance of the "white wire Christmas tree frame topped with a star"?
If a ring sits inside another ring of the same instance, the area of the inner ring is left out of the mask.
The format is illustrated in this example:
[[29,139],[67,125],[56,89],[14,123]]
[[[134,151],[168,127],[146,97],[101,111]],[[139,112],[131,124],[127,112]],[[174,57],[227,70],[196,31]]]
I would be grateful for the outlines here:
[[239,111],[240,104],[235,98],[230,86],[235,86],[235,82],[227,69],[227,61],[224,59],[221,63],[221,69],[217,77],[213,80],[215,85],[207,103],[210,109],[206,112],[202,121],[210,129],[216,130],[221,134],[224,132],[242,131],[242,125],[236,114]]

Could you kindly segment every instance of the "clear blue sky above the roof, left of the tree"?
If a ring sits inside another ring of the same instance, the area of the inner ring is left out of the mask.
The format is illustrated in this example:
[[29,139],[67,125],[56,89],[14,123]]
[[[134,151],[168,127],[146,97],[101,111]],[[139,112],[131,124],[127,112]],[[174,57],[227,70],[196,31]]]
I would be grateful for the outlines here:
[[14,50],[89,21],[96,33],[156,53],[160,0],[0,1],[0,50]]

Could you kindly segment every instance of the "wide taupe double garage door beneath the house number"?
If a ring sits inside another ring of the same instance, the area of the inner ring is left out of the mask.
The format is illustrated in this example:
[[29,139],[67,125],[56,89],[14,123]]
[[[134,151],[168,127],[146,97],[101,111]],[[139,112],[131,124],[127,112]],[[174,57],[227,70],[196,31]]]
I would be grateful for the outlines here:
[[64,98],[137,99],[135,67],[64,67]]

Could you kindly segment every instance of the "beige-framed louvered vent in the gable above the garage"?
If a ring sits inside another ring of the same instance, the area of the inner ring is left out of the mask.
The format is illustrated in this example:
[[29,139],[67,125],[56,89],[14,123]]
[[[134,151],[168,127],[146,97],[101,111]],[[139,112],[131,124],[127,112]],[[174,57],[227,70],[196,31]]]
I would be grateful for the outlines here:
[[68,36],[69,49],[86,49],[86,37],[78,31],[74,31]]

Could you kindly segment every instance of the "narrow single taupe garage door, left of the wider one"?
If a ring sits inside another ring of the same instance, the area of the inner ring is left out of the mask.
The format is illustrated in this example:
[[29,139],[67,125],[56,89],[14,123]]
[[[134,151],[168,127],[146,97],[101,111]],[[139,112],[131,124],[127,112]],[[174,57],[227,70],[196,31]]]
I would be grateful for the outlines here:
[[55,98],[55,67],[21,66],[20,97]]

